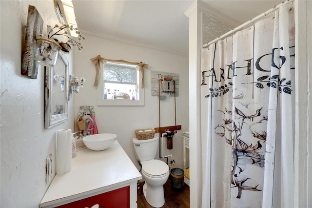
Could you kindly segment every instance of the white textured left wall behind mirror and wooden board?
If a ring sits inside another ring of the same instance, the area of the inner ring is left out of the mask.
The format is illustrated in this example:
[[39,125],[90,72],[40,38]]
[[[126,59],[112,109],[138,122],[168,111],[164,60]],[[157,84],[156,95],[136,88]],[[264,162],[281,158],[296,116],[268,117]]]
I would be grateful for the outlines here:
[[[45,184],[45,158],[52,153],[55,167],[55,132],[73,128],[73,102],[69,121],[43,128],[44,68],[36,80],[21,76],[21,56],[28,4],[34,5],[46,25],[59,23],[53,0],[0,1],[1,7],[1,201],[2,208],[35,208],[49,185]],[[73,70],[73,53],[66,56]],[[55,174],[55,168],[53,168]]]

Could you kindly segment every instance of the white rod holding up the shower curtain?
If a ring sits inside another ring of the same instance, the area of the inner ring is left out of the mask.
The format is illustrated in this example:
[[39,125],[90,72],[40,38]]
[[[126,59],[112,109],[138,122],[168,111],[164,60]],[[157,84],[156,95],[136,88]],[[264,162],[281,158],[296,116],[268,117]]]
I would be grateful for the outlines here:
[[277,9],[278,9],[279,7],[281,7],[283,4],[291,3],[292,1],[293,1],[293,0],[286,0],[286,1],[283,1],[282,3],[278,4],[277,6],[274,6],[272,9],[269,9],[268,11],[263,12],[262,14],[260,14],[260,15],[258,15],[258,16],[256,16],[256,17],[252,18],[250,21],[246,21],[245,23],[243,23],[243,24],[241,24],[241,25],[235,27],[235,28],[232,29],[231,31],[229,31],[229,32],[227,32],[227,33],[221,35],[221,36],[218,37],[218,38],[216,38],[215,40],[204,44],[204,45],[203,45],[203,48],[207,48],[210,44],[215,43],[215,42],[217,42],[217,41],[219,41],[219,40],[221,40],[221,39],[227,37],[228,35],[233,34],[234,32],[236,32],[236,31],[242,29],[243,27],[245,27],[245,26],[247,26],[247,25],[253,23],[254,21],[257,21],[257,20],[263,18],[264,16],[270,14],[271,12],[277,10]]

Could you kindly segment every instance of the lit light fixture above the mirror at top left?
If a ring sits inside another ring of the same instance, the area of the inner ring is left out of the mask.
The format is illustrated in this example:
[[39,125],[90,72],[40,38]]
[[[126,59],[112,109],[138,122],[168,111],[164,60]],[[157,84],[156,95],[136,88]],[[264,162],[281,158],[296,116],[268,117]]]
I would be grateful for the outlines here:
[[[59,23],[73,25],[74,28],[78,28],[72,0],[54,0],[54,9]],[[75,30],[68,30],[68,32],[72,37],[78,37]]]

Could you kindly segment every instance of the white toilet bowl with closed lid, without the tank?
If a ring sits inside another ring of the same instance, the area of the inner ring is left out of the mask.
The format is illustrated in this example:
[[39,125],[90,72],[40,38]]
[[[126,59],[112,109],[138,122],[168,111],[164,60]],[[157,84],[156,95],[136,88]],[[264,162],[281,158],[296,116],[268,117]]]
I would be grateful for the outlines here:
[[155,208],[165,204],[164,188],[169,177],[169,167],[160,160],[142,162],[143,193],[146,201]]

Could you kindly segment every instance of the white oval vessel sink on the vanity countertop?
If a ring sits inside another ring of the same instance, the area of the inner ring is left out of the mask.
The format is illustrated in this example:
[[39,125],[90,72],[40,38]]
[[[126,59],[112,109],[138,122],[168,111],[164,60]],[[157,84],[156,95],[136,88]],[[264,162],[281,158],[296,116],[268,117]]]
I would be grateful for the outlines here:
[[95,150],[95,151],[101,151],[104,149],[107,149],[116,140],[117,135],[116,134],[93,134],[89,136],[85,136],[82,138],[82,141],[85,146],[87,146],[89,149]]

